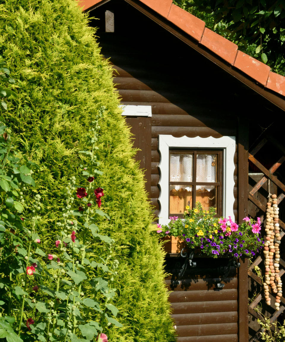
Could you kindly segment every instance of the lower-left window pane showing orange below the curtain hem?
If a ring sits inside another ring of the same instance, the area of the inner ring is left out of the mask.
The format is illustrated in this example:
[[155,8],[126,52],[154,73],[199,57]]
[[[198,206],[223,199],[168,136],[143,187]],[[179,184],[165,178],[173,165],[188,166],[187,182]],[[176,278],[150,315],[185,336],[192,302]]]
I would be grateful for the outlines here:
[[192,208],[192,186],[170,185],[170,215],[183,214],[186,206]]

